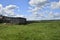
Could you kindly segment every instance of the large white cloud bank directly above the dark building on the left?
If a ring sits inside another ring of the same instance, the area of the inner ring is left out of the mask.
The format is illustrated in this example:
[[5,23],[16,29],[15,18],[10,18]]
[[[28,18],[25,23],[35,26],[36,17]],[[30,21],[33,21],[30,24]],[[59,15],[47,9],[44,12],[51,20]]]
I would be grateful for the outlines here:
[[6,7],[3,7],[2,4],[0,4],[0,15],[4,16],[11,16],[11,17],[23,17],[23,15],[16,15],[15,9],[18,9],[19,7],[16,5],[7,5]]

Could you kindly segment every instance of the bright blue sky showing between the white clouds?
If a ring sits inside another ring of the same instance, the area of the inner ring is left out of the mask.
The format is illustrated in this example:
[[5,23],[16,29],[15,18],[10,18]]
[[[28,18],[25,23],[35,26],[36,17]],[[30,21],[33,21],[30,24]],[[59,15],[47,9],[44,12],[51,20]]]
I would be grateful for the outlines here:
[[[29,20],[36,20],[36,19],[43,19],[43,17],[35,17],[34,14],[32,14],[31,12],[28,12],[29,10],[29,1],[30,0],[0,0],[0,4],[2,4],[4,7],[7,5],[17,5],[19,7],[19,11],[15,10],[16,14],[21,14],[24,15],[27,19]],[[49,0],[49,2],[58,2],[59,0]],[[50,10],[49,8],[44,8],[42,12],[44,12],[44,10]],[[60,9],[56,9],[53,10],[60,12]],[[46,15],[45,15],[46,16]],[[46,19],[48,19],[49,17],[47,16]]]

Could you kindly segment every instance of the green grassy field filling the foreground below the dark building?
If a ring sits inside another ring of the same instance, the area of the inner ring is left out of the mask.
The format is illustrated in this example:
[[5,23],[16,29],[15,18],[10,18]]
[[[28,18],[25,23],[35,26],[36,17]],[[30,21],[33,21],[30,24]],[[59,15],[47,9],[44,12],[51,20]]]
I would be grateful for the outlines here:
[[60,21],[0,24],[0,40],[60,40]]

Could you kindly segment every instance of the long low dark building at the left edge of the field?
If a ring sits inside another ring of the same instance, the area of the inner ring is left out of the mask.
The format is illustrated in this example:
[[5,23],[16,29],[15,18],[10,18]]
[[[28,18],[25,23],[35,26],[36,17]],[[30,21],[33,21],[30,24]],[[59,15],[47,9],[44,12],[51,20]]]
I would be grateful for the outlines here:
[[11,23],[11,24],[26,24],[26,18],[22,17],[7,17],[0,15],[1,23]]

